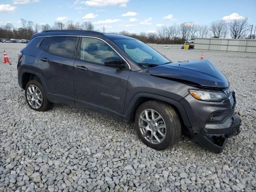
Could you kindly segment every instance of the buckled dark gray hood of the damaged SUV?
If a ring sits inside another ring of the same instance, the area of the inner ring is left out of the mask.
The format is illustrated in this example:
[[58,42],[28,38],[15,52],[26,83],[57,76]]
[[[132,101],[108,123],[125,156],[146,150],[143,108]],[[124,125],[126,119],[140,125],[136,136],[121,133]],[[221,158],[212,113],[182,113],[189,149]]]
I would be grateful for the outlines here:
[[209,60],[177,62],[150,67],[151,75],[194,82],[201,86],[226,88],[228,79]]

